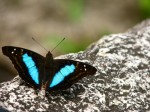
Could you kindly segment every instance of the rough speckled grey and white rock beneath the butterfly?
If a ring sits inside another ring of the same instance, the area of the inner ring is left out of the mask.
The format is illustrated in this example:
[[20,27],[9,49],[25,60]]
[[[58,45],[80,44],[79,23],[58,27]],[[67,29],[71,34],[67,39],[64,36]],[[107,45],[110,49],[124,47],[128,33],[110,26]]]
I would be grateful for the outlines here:
[[150,111],[150,20],[58,58],[86,62],[98,71],[45,98],[15,77],[0,84],[1,107],[18,112]]

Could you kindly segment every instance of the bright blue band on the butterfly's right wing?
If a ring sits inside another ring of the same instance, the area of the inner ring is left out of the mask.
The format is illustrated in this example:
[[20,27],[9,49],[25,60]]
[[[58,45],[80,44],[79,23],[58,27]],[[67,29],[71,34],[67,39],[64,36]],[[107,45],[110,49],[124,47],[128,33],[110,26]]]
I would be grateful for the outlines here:
[[65,77],[73,73],[74,70],[75,70],[75,66],[73,64],[66,65],[65,67],[61,68],[60,71],[54,75],[54,78],[50,84],[50,88],[61,83],[65,79]]

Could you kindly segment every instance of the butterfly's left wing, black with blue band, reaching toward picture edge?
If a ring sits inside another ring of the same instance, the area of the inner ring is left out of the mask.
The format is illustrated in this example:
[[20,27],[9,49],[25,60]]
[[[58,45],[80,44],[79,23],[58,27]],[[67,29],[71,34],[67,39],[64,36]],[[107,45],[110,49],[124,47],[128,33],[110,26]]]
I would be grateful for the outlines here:
[[35,88],[40,88],[39,69],[44,61],[43,56],[24,48],[12,46],[2,47],[2,52],[10,58],[23,80]]

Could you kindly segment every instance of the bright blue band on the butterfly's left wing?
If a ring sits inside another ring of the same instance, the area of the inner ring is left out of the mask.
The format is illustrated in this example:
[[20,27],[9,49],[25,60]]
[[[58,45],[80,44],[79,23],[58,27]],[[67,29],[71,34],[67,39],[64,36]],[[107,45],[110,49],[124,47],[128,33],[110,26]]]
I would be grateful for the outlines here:
[[29,72],[31,78],[35,81],[36,84],[39,84],[38,69],[37,69],[32,57],[26,53],[26,54],[22,55],[22,58],[23,58],[23,62],[25,63],[25,65],[28,69],[28,72]]

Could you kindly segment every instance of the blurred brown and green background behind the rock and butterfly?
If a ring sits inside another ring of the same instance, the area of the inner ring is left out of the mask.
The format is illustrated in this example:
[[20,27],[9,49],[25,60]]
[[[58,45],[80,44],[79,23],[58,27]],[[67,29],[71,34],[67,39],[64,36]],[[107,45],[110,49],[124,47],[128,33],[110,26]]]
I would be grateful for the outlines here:
[[[149,0],[1,0],[0,47],[19,46],[54,56],[84,50],[103,35],[127,31],[149,17]],[[17,75],[0,50],[0,82]]]

